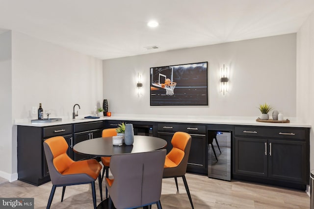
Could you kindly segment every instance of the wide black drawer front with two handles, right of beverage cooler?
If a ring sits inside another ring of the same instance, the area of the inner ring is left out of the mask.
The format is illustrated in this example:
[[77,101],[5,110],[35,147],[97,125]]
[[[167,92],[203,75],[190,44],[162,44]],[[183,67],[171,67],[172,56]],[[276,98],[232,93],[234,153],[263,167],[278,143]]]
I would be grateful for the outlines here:
[[306,128],[235,126],[235,136],[305,140]]

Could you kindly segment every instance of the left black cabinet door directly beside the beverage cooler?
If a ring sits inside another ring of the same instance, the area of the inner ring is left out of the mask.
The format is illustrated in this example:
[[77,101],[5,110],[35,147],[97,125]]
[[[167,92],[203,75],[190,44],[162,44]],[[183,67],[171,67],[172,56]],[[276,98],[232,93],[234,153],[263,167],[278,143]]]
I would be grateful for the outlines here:
[[235,137],[235,174],[267,177],[267,140]]

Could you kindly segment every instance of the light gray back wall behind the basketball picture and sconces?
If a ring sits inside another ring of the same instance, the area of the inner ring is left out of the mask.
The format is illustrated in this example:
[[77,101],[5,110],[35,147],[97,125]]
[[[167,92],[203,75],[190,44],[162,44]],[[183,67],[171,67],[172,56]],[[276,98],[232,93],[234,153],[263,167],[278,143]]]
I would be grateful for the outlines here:
[[[208,61],[209,106],[150,106],[150,68]],[[219,89],[223,65],[229,92]],[[137,97],[137,73],[143,95]],[[267,102],[284,117],[296,116],[296,34],[185,48],[103,61],[104,98],[112,114],[260,116]]]

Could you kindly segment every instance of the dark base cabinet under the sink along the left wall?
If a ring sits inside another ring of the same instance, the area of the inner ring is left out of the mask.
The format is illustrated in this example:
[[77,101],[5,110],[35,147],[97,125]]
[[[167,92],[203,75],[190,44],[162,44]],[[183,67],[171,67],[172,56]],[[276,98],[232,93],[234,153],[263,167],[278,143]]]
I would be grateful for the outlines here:
[[[102,135],[103,121],[66,124],[46,127],[18,126],[18,179],[39,186],[50,181],[43,142],[55,136],[62,136],[67,141],[67,154],[77,160],[73,146],[80,140],[98,138]],[[74,134],[74,130],[81,131]],[[85,159],[86,156],[82,157]],[[90,156],[87,156],[90,158]]]

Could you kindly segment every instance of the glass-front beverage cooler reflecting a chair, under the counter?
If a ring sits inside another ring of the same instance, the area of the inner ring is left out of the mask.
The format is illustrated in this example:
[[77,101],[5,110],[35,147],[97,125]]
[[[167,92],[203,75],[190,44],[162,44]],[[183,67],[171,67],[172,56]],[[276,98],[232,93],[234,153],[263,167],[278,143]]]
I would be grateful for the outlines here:
[[231,132],[208,131],[208,177],[231,180]]

